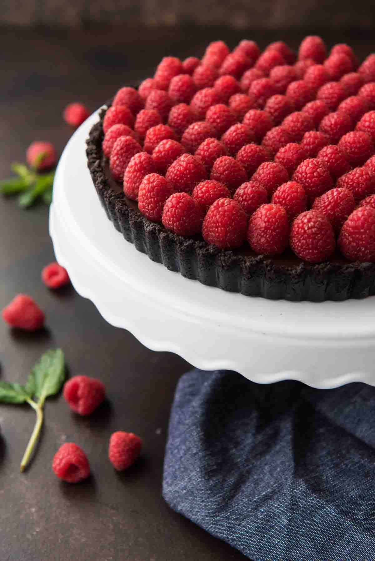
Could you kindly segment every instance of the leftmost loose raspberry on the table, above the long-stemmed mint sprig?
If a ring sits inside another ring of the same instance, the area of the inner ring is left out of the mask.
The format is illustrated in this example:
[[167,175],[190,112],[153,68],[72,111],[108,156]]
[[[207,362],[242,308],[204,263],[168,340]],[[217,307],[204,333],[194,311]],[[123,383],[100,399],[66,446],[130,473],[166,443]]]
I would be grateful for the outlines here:
[[11,327],[24,329],[25,331],[36,331],[43,327],[44,314],[33,298],[25,294],[18,294],[4,307],[2,311],[3,320]]

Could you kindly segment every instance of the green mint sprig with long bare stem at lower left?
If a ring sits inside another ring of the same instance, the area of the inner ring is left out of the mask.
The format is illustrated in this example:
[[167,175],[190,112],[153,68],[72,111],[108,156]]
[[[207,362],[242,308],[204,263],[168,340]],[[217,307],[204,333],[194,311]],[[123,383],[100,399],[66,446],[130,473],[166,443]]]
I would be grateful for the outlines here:
[[47,397],[55,396],[64,384],[65,361],[61,349],[44,353],[31,370],[24,386],[0,381],[0,402],[29,403],[37,413],[33,434],[21,461],[20,471],[24,471],[30,461],[31,454],[39,438],[43,425],[43,407]]

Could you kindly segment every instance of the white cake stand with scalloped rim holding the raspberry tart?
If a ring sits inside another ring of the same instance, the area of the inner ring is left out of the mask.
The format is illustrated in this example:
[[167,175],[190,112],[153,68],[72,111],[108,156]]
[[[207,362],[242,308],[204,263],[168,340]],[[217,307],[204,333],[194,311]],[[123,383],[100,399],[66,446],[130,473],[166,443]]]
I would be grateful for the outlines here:
[[87,119],[62,154],[50,233],[76,291],[103,318],[204,370],[235,370],[259,383],[375,385],[375,297],[316,304],[233,294],[170,272],[126,242],[87,168],[85,139],[97,119]]

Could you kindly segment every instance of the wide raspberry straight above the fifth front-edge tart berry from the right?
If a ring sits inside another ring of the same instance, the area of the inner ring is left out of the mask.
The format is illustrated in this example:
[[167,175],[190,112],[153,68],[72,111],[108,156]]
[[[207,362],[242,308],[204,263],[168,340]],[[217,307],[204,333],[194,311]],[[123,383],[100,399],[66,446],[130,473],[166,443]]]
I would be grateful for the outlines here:
[[201,159],[192,154],[180,156],[169,166],[165,175],[166,180],[173,185],[175,191],[186,193],[191,193],[197,183],[206,177],[206,168]]

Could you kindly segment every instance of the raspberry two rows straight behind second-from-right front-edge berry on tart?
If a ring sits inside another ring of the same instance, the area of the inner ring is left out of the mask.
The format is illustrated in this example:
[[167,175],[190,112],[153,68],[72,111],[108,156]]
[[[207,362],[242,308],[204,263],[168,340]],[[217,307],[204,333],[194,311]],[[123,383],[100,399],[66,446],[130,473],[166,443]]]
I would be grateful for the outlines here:
[[326,165],[317,158],[301,162],[293,173],[293,181],[301,183],[310,203],[333,187],[333,180]]

